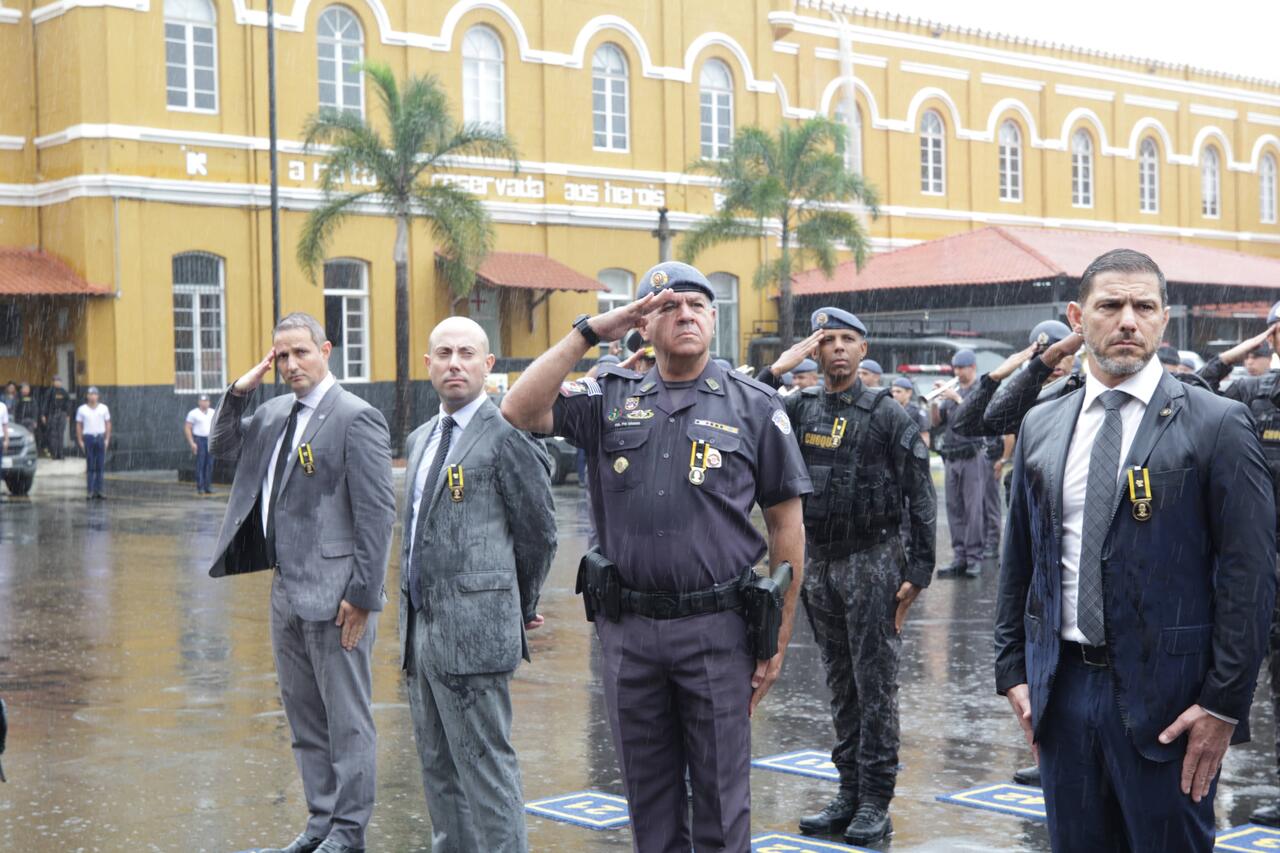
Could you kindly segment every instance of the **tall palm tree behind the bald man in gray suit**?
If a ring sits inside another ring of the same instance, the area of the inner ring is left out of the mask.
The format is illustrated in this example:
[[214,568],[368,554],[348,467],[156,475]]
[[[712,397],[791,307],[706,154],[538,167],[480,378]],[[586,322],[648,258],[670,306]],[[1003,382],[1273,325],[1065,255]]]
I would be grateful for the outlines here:
[[[320,190],[324,202],[307,215],[298,241],[298,264],[315,282],[334,229],[357,207],[374,205],[396,218],[396,414],[392,447],[403,451],[410,428],[408,380],[408,232],[415,219],[431,231],[439,272],[456,296],[475,282],[476,266],[493,247],[493,227],[479,199],[433,175],[448,159],[480,156],[518,169],[515,143],[484,124],[461,124],[434,76],[404,81],[403,91],[387,65],[366,63],[364,72],[381,102],[390,141],[361,115],[333,109],[307,119],[307,150],[328,146]],[[346,191],[343,177],[361,173],[367,187]]]

